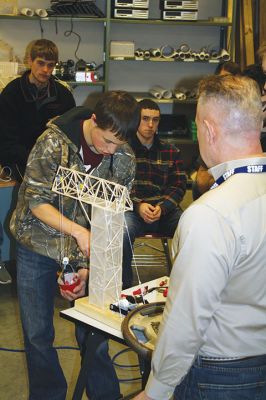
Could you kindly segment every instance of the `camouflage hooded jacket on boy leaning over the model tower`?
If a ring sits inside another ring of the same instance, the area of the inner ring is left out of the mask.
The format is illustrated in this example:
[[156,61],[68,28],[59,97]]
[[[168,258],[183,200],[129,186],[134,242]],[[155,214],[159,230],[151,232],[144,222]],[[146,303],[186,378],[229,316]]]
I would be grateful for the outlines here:
[[[79,203],[59,196],[51,191],[51,187],[60,165],[85,172],[79,154],[81,121],[89,119],[91,114],[85,107],[76,107],[47,124],[28,158],[10,222],[12,234],[22,245],[58,262],[62,254],[68,255],[72,265],[79,266],[86,266],[87,260],[79,252],[75,239],[65,237],[41,222],[34,217],[31,209],[40,204],[51,204],[70,220],[82,226],[88,225]],[[92,174],[125,185],[130,190],[135,174],[135,158],[130,146],[123,145],[115,154],[104,156]],[[83,206],[89,207],[86,204]]]

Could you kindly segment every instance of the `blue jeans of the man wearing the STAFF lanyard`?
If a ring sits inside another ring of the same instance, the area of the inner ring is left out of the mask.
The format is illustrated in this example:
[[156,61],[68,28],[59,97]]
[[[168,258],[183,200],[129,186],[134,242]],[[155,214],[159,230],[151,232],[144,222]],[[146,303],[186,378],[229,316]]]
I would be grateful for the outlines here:
[[266,355],[234,361],[198,357],[174,400],[265,400]]

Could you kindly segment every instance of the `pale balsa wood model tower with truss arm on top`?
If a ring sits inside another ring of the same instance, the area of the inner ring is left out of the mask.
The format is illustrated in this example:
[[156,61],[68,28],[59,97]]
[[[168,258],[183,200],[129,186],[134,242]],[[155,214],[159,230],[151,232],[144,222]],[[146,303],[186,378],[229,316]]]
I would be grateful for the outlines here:
[[[86,302],[98,309],[109,309],[122,290],[124,212],[133,209],[128,190],[64,167],[59,167],[52,190],[78,200],[91,224],[89,301]],[[82,203],[91,205],[91,218]],[[84,299],[80,300],[84,304]]]

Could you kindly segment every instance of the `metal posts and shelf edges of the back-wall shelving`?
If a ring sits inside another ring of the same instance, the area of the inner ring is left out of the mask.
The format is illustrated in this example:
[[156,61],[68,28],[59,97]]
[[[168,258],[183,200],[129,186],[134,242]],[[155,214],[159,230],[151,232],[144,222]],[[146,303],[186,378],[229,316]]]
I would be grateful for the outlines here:
[[[226,0],[222,0],[222,9],[225,10],[227,2]],[[201,29],[201,27],[216,27],[220,28],[220,45],[226,46],[226,43],[230,43],[230,48],[228,49],[230,53],[230,57],[232,60],[234,60],[234,42],[235,42],[235,26],[236,26],[236,7],[237,7],[237,0],[233,0],[232,2],[232,18],[229,20],[227,16],[222,15],[221,17],[216,17],[211,19],[202,19],[202,20],[197,20],[197,21],[166,21],[166,20],[159,20],[159,19],[149,19],[149,20],[135,20],[135,19],[125,19],[125,18],[112,18],[111,17],[111,1],[110,0],[105,0],[105,18],[99,18],[99,17],[86,17],[86,16],[79,16],[79,17],[71,17],[71,16],[49,16],[45,18],[40,18],[37,16],[33,17],[27,17],[24,15],[0,15],[0,19],[8,19],[8,20],[16,20],[16,21],[39,21],[40,25],[45,24],[46,21],[78,21],[80,23],[100,23],[103,26],[103,79],[97,82],[76,82],[76,81],[71,81],[68,82],[73,88],[75,87],[80,87],[80,86],[89,86],[89,87],[101,87],[103,91],[106,91],[109,89],[109,77],[110,77],[110,71],[113,71],[113,68],[115,68],[116,62],[134,62],[136,65],[138,65],[138,62],[144,62],[143,65],[147,65],[147,63],[152,63],[151,65],[154,65],[155,63],[159,63],[158,65],[162,66],[163,63],[167,63],[168,65],[170,64],[175,64],[176,66],[179,66],[181,64],[210,64],[213,63],[215,64],[215,61],[200,61],[200,60],[188,60],[188,61],[180,61],[180,60],[169,60],[169,59],[139,59],[139,58],[121,58],[121,57],[111,57],[109,54],[109,42],[112,36],[112,28],[115,26],[121,26],[121,37],[123,37],[123,32],[124,29],[126,29],[126,26],[136,26],[136,29],[138,26],[158,26],[158,27],[173,27],[176,28],[178,31],[179,28],[182,27],[193,27],[193,28],[198,28]],[[230,41],[228,41],[227,36],[230,34]],[[216,61],[217,63],[217,61]],[[167,65],[165,64],[165,65]],[[178,68],[178,67],[177,67]],[[140,76],[137,77],[137,79],[141,79]],[[132,93],[136,99],[140,100],[142,98],[147,98],[150,97],[154,101],[161,103],[161,104],[173,104],[173,105],[184,105],[186,107],[192,107],[193,110],[195,109],[196,105],[196,100],[195,99],[188,99],[188,100],[178,100],[176,98],[171,98],[171,99],[156,99],[152,97],[149,93],[147,92],[133,92]],[[183,107],[184,108],[184,107]],[[180,140],[184,140],[181,139]],[[189,141],[189,139],[186,139]],[[193,142],[191,140],[191,142]]]

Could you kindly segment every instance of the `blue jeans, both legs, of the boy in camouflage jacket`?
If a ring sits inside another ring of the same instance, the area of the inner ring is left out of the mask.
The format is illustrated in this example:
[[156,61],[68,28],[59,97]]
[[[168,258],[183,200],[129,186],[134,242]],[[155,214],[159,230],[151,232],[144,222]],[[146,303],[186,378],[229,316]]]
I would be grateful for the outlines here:
[[[58,267],[51,258],[17,245],[18,298],[28,366],[29,400],[66,398],[67,382],[53,348]],[[82,354],[87,331],[87,328],[77,328]],[[90,357],[87,393],[91,400],[116,400],[120,397],[119,383],[108,354],[108,342],[100,337],[99,344]]]

